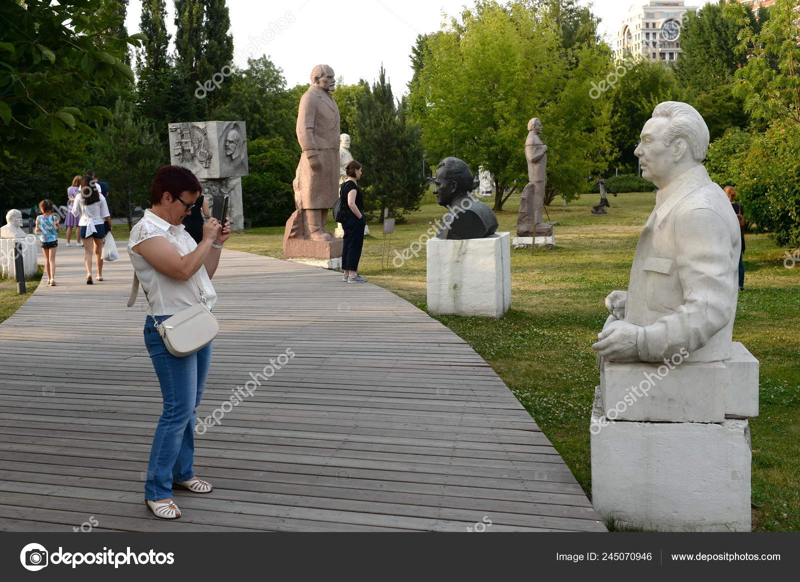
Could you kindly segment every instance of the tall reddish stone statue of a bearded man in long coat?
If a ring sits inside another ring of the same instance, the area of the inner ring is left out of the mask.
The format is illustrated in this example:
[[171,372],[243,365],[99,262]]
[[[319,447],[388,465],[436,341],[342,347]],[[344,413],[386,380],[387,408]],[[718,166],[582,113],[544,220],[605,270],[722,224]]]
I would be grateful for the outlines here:
[[297,209],[286,221],[283,236],[287,258],[342,256],[342,241],[325,230],[328,210],[338,197],[340,176],[339,108],[330,94],[335,90],[334,70],[327,65],[315,66],[298,109],[302,156],[293,182]]

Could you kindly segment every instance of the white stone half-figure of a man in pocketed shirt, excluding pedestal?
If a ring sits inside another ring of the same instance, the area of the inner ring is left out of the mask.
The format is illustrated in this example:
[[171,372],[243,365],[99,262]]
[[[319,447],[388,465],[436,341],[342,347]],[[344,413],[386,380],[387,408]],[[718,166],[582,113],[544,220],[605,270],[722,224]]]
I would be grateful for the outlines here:
[[736,214],[702,161],[709,131],[694,107],[664,102],[634,152],[658,186],[627,291],[606,297],[611,315],[592,349],[608,361],[730,357],[741,240]]

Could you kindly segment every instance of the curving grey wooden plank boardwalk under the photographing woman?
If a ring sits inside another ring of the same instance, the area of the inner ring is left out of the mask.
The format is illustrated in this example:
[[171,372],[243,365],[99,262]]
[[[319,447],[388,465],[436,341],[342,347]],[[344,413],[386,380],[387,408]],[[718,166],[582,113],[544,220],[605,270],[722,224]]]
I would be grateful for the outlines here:
[[214,277],[222,331],[198,416],[295,356],[196,438],[214,492],[177,491],[181,519],[159,520],[143,503],[161,412],[143,293],[126,308],[126,253],[91,286],[82,257],[59,247],[59,285],[0,325],[0,530],[605,531],[461,338],[376,285],[235,251]]

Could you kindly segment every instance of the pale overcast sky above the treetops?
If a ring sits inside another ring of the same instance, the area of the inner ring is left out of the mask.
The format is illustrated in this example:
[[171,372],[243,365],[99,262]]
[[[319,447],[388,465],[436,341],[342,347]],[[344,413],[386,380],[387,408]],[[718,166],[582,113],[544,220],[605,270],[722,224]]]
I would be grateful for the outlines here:
[[[686,2],[702,6],[708,0]],[[409,55],[417,34],[438,30],[442,14],[458,14],[466,0],[228,0],[234,62],[246,66],[246,56],[267,54],[279,66],[289,86],[309,82],[314,65],[334,68],[346,84],[359,78],[373,81],[383,65],[395,95],[411,78]],[[590,2],[581,2],[588,5]],[[637,2],[634,2],[637,3]],[[174,35],[174,3],[166,2],[167,27]],[[610,41],[631,2],[596,0],[594,13]],[[141,0],[130,0],[127,26],[138,32]],[[292,21],[292,22],[290,22]],[[260,39],[260,40],[259,40]]]

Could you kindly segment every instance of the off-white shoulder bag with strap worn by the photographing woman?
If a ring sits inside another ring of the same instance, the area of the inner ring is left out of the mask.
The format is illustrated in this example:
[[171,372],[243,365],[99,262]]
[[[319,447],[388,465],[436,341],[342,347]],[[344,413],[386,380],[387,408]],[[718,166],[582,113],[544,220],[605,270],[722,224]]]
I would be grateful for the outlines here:
[[[169,319],[165,319],[158,323],[153,314],[153,305],[150,304],[150,299],[147,298],[145,291],[145,299],[147,307],[150,311],[150,316],[155,321],[155,329],[158,330],[166,349],[176,357],[189,356],[203,349],[209,345],[214,337],[219,333],[219,323],[211,310],[206,306],[206,293],[203,292],[202,287],[198,284],[197,280],[192,277],[194,284],[198,286],[200,291],[200,303],[192,305],[186,309],[181,309],[178,313]],[[139,291],[139,278],[134,273],[134,285],[130,289],[130,297],[128,298],[128,307],[133,307],[136,302],[136,296]],[[142,287],[142,291],[144,288]]]

